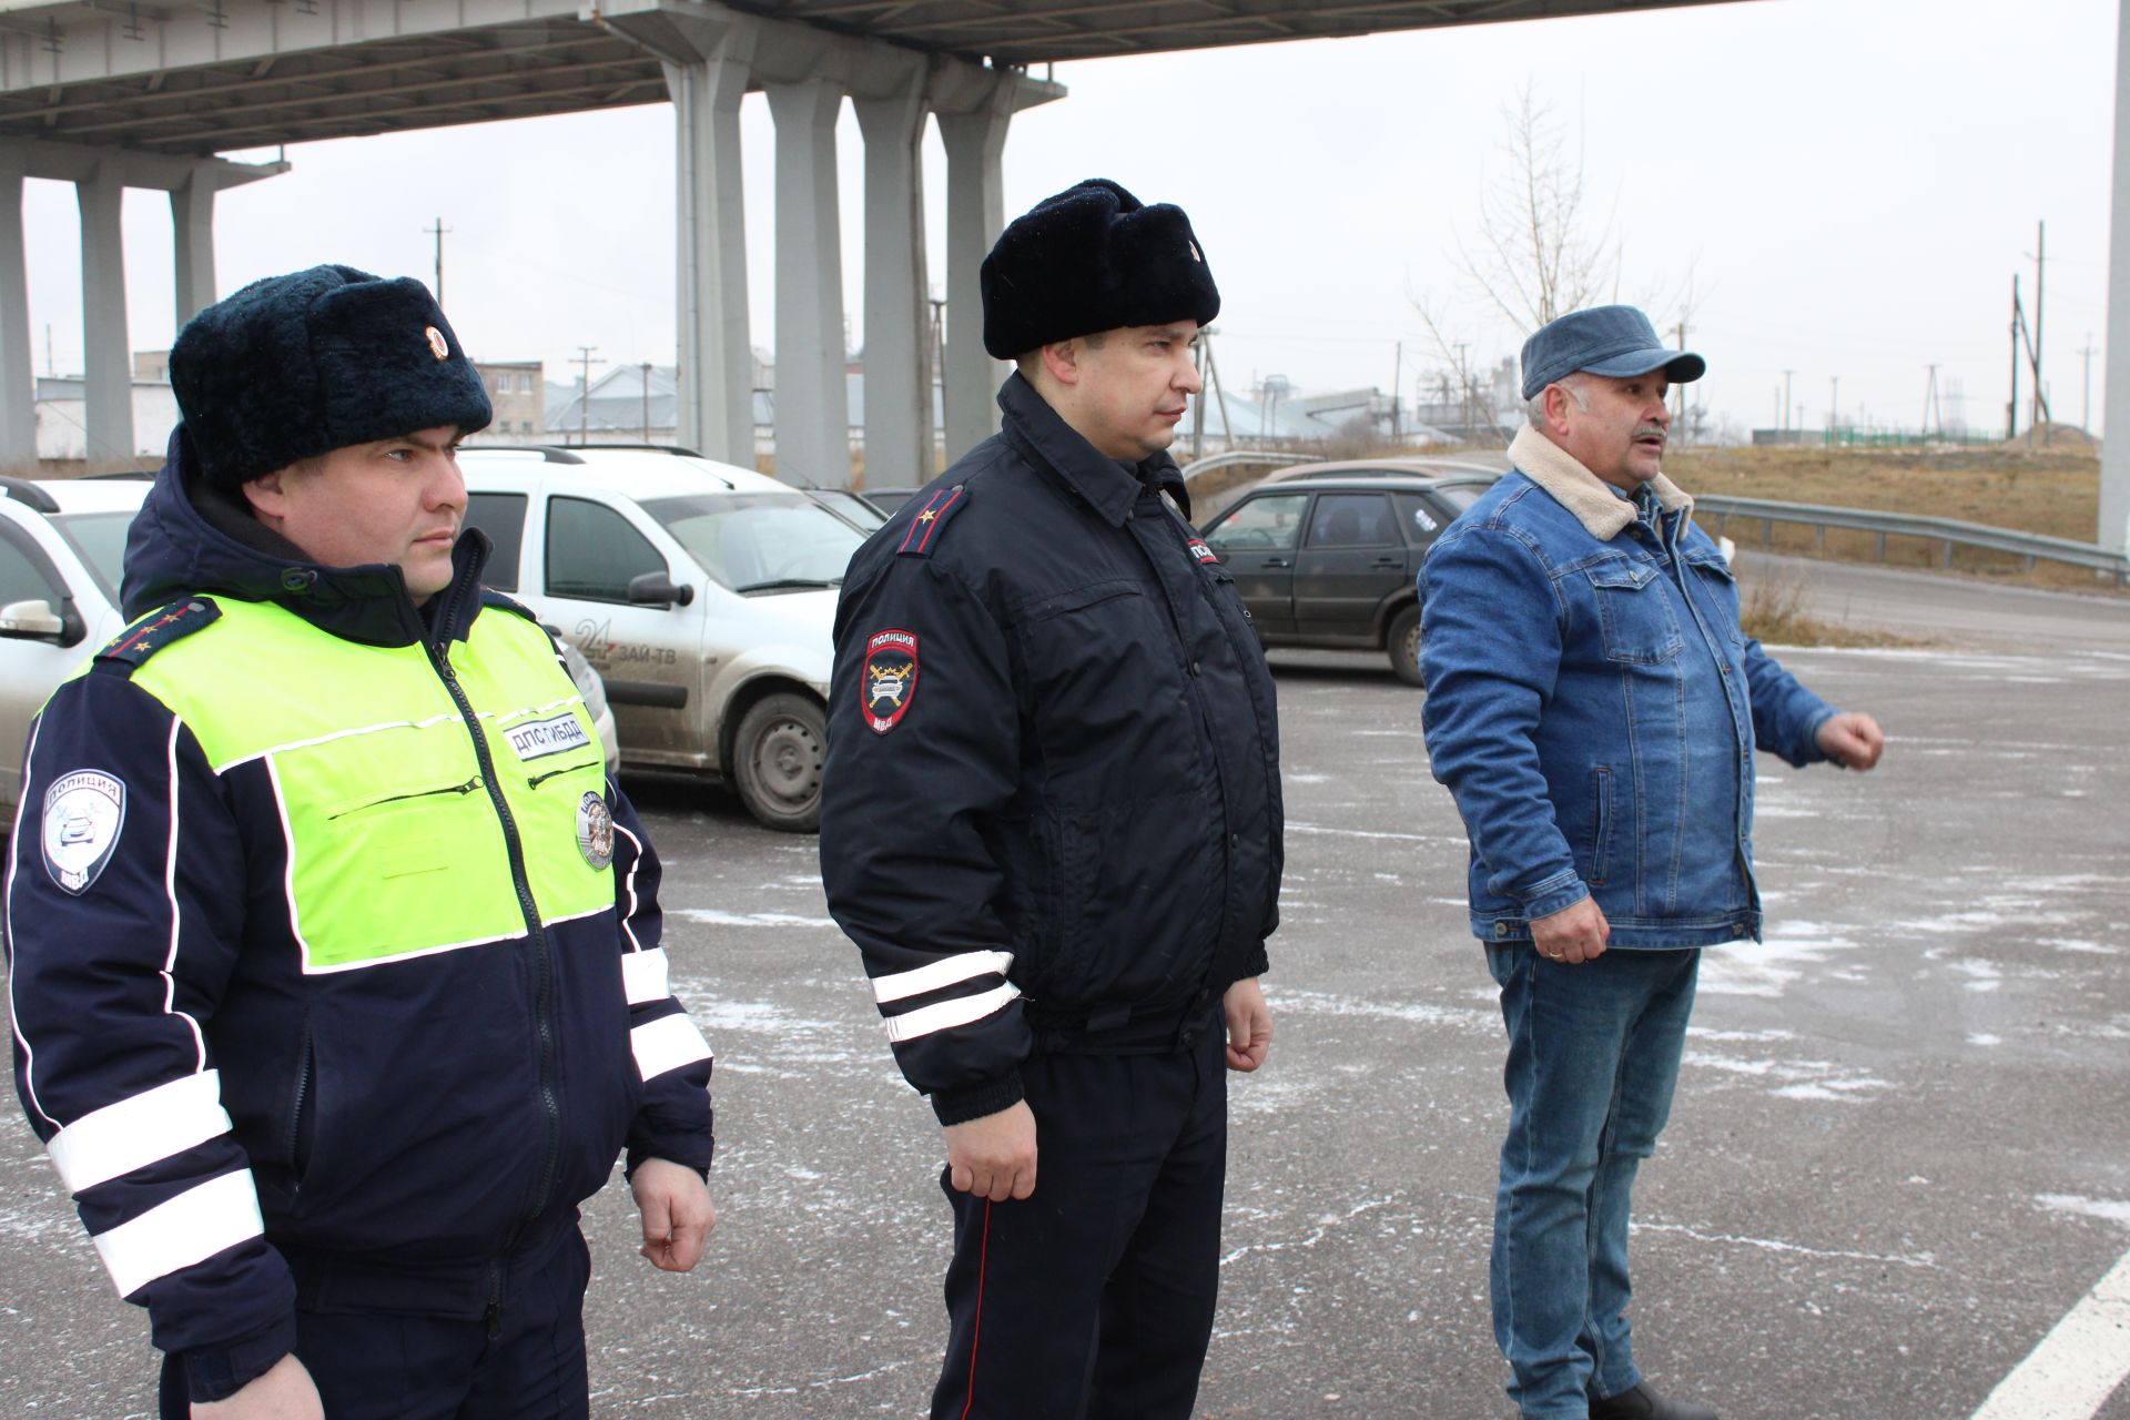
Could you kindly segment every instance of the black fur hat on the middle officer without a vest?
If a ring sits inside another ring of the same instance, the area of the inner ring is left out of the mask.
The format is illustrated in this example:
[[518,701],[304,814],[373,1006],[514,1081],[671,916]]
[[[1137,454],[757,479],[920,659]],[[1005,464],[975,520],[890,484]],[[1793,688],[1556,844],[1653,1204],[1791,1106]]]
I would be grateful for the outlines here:
[[1014,360],[1118,326],[1199,326],[1220,292],[1184,209],[1095,177],[1016,217],[984,258],[984,349]]

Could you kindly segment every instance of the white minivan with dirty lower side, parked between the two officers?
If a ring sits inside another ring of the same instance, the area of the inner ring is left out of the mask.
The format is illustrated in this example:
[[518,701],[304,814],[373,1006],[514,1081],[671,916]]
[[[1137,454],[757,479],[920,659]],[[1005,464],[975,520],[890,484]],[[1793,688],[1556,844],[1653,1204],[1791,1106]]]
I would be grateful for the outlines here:
[[716,775],[820,824],[837,588],[865,534],[752,468],[654,447],[458,451],[488,585],[607,686],[622,764]]

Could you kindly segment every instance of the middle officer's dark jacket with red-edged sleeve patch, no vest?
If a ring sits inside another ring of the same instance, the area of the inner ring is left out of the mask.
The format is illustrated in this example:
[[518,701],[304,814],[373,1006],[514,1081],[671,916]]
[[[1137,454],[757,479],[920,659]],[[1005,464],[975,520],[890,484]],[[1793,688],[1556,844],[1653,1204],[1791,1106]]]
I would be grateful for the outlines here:
[[820,858],[944,1124],[1048,1030],[1148,1041],[1265,969],[1272,675],[1233,577],[1018,375],[1003,430],[852,558]]

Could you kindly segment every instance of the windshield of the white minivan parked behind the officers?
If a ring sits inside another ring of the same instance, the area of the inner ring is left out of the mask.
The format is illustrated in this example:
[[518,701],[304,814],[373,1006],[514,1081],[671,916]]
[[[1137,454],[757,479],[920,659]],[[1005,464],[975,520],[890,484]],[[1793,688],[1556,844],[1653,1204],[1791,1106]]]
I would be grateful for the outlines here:
[[841,585],[865,536],[805,494],[686,494],[643,511],[735,592]]

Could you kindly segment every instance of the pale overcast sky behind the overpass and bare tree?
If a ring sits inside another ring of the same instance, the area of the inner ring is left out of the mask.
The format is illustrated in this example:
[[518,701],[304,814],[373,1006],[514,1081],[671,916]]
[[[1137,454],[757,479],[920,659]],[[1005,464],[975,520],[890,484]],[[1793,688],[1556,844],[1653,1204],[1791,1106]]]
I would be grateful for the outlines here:
[[[1691,273],[1706,404],[1738,428],[1793,417],[2002,428],[2011,279],[2032,300],[2047,221],[2045,377],[2100,422],[2115,0],[1751,0],[1353,40],[1061,64],[1065,100],[1014,119],[1005,211],[1112,177],[1191,213],[1223,292],[1229,390],[1402,392],[1444,360],[1414,302],[1474,362],[1514,356],[1459,277],[1480,194],[1506,170],[1504,109],[1529,87],[1580,151],[1591,236],[1619,294],[1668,324]],[[743,115],[754,343],[773,345],[773,128]],[[863,339],[863,147],[843,109],[846,307]],[[273,153],[249,153],[247,158]],[[315,262],[432,273],[488,360],[575,373],[673,360],[673,115],[665,104],[288,149],[294,170],[217,200],[219,290]],[[927,141],[931,281],[946,170]],[[81,366],[79,224],[64,183],[28,183],[36,366]],[[134,345],[173,336],[170,221],[126,194]],[[1957,402],[1955,402],[1957,400]],[[1802,407],[1802,415],[1796,413]],[[2024,424],[2024,415],[2021,415]]]

